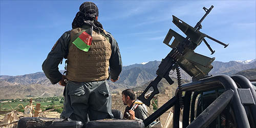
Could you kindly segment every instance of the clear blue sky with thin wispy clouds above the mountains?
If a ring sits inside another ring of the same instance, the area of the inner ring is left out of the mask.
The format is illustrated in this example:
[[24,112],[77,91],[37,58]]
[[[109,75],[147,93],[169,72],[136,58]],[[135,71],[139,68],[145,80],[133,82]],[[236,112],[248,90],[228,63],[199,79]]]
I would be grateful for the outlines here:
[[[0,1],[0,75],[42,72],[41,65],[58,38],[71,24],[85,1]],[[214,37],[227,48],[206,38],[195,52],[217,61],[256,58],[256,1],[92,1],[98,21],[118,42],[123,66],[161,60],[172,49],[163,44],[169,29],[186,37],[172,23],[172,15]],[[59,70],[64,70],[59,65]]]

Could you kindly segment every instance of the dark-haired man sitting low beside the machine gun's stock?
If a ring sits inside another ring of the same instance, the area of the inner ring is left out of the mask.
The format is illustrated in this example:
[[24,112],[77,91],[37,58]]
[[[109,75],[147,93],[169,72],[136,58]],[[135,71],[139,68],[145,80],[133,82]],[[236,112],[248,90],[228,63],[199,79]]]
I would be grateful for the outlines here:
[[147,118],[146,106],[141,101],[135,99],[136,96],[133,90],[126,89],[122,92],[123,104],[127,105],[123,118],[143,121]]

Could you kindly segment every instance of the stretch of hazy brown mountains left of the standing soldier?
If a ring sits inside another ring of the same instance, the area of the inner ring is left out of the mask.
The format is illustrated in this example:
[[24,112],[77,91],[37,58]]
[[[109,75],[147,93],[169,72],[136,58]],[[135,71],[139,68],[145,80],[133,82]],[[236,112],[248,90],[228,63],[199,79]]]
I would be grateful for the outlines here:
[[61,96],[64,90],[51,84],[43,72],[0,78],[0,99]]

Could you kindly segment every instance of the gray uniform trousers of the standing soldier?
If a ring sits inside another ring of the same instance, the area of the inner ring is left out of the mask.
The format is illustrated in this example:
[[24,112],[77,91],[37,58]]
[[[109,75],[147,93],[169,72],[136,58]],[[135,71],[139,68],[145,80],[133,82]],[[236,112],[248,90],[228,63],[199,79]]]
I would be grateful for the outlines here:
[[[67,83],[64,91],[64,106],[60,118],[90,120],[113,118],[112,100],[108,82],[74,82]],[[89,119],[88,119],[89,117]]]

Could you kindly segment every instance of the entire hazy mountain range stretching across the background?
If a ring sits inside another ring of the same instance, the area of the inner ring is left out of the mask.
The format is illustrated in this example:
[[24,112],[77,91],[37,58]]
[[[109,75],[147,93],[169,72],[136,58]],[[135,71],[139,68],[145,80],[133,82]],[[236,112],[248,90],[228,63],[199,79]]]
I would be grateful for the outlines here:
[[[112,92],[122,91],[123,89],[133,88],[134,90],[144,90],[145,87],[157,76],[156,71],[161,61],[150,61],[143,64],[123,66],[120,78],[116,82],[108,80]],[[249,79],[256,79],[256,61],[251,60],[246,64],[240,61],[212,62],[214,68],[209,74],[240,74]],[[242,72],[240,72],[242,71]],[[63,71],[60,71],[63,73]],[[172,85],[174,90],[177,88],[176,72],[170,72],[170,77],[175,81]],[[181,70],[182,82],[191,81],[191,77]],[[160,90],[168,86],[165,79],[158,84]],[[50,97],[62,95],[63,87],[58,84],[51,84],[43,72],[19,76],[0,76],[0,99],[15,99],[26,97]],[[161,92],[161,91],[160,91]]]

